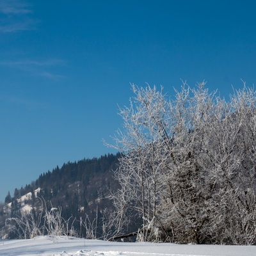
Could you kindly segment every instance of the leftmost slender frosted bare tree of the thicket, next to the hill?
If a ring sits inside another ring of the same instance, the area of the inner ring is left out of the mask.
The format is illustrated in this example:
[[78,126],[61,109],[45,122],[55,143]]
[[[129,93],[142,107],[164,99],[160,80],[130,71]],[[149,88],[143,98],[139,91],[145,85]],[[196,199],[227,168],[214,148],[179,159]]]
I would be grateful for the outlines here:
[[135,97],[130,107],[120,108],[124,131],[117,131],[113,145],[124,152],[115,172],[121,186],[113,197],[117,209],[116,232],[124,232],[122,228],[132,216],[139,216],[143,225],[140,237],[147,240],[152,235],[148,223],[154,225],[157,217],[162,165],[166,159],[160,144],[168,143],[170,116],[166,111],[168,102],[156,86],[143,89],[133,84],[132,91]]

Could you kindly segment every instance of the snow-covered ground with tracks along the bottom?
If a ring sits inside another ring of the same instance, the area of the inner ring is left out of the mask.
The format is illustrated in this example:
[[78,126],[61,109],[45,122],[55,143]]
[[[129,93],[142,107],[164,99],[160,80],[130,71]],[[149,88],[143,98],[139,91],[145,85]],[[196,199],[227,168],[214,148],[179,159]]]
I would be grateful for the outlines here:
[[256,246],[179,245],[118,243],[67,237],[36,237],[27,240],[0,240],[0,255],[8,256],[255,256]]

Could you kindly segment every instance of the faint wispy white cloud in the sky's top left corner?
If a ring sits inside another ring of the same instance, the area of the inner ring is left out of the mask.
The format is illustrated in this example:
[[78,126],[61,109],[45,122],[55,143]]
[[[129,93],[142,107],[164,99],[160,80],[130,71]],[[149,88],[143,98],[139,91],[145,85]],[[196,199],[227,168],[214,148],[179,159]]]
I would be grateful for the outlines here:
[[0,33],[14,33],[35,29],[38,20],[32,19],[31,5],[24,0],[1,0]]

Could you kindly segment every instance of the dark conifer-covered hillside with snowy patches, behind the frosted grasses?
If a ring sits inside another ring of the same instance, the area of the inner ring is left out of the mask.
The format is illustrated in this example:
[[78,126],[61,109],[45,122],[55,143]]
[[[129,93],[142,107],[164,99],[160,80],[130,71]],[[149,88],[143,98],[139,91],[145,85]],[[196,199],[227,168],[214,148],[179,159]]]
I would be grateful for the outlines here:
[[[13,196],[8,193],[0,209],[2,236],[14,238],[22,234],[17,232],[19,227],[10,218],[30,214],[35,220],[41,218],[44,225],[45,213],[56,209],[63,220],[70,220],[79,236],[102,237],[106,212],[112,209],[109,195],[118,189],[112,172],[118,167],[118,157],[120,154],[108,154],[75,163],[68,162],[61,168],[57,166],[52,172],[42,173],[35,182],[24,188],[15,189]],[[87,223],[81,225],[80,220],[86,220]],[[88,233],[90,228],[93,234]]]

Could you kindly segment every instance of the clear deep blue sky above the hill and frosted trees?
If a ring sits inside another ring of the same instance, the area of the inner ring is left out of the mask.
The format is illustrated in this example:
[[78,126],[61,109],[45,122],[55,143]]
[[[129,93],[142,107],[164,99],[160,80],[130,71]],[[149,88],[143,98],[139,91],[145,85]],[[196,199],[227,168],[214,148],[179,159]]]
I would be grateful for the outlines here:
[[227,97],[256,81],[254,1],[0,1],[0,201],[111,152],[130,83]]

